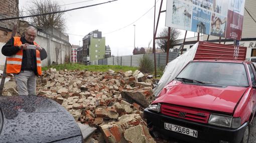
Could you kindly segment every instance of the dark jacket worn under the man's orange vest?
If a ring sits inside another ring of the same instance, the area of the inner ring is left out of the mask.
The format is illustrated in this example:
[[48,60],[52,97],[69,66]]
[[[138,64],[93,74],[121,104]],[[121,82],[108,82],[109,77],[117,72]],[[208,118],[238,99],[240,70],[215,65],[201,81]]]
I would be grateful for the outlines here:
[[[25,37],[21,37],[22,44],[34,44],[33,42],[28,42]],[[11,56],[16,54],[20,50],[19,46],[14,46],[14,38],[12,37],[2,48],[2,53],[5,56]],[[43,48],[40,51],[41,60],[47,57],[47,52]],[[22,57],[22,67],[21,70],[33,70],[36,75],[37,73],[37,57],[36,57],[36,50],[34,49],[27,49],[23,50],[23,57]]]

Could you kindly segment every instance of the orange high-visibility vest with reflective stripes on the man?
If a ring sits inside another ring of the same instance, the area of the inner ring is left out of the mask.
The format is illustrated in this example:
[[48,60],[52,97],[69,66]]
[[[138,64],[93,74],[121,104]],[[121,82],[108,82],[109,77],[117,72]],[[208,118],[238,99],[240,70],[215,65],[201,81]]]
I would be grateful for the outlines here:
[[[35,45],[38,45],[34,42]],[[14,46],[22,45],[21,37],[14,37]],[[20,49],[16,54],[7,56],[7,65],[6,65],[6,72],[7,73],[20,73],[21,66],[22,66],[22,57],[23,57],[23,50]],[[42,66],[41,66],[41,57],[40,51],[36,49],[36,57],[37,57],[37,73],[42,75]]]

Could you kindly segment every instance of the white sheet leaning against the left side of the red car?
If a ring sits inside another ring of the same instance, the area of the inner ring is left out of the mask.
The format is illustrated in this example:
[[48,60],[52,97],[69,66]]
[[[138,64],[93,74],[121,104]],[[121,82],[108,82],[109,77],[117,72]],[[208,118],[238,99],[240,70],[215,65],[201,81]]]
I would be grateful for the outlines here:
[[179,74],[181,69],[194,59],[198,43],[199,42],[194,44],[187,52],[173,59],[166,65],[163,76],[159,80],[158,85],[154,88],[155,96],[158,96],[165,85],[171,82]]

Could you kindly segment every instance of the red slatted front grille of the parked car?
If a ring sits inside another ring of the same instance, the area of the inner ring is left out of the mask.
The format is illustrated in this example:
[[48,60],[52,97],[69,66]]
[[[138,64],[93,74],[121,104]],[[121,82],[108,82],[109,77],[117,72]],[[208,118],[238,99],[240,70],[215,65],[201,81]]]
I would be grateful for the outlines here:
[[166,115],[193,120],[197,122],[207,123],[210,116],[210,112],[182,107],[171,104],[161,104],[161,112]]

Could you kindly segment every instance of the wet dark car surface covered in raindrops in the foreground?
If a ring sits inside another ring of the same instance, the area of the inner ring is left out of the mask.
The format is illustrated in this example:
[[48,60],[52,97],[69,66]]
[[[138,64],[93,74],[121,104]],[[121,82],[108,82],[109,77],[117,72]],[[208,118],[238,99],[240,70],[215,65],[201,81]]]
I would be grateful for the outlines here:
[[0,96],[0,108],[0,142],[54,142],[81,136],[72,115],[46,97]]

